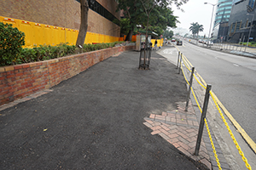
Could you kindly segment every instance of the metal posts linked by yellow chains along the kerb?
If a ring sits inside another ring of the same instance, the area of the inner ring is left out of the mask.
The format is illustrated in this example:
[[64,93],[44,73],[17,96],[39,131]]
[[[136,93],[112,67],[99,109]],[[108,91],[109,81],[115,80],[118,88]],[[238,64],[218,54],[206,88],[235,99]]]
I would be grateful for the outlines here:
[[[185,66],[185,67],[183,68],[183,66]],[[212,86],[207,84],[207,82],[205,82],[202,79],[202,77],[199,75],[199,73],[197,71],[195,71],[195,67],[193,67],[193,65],[189,62],[189,59],[187,59],[181,52],[178,52],[177,68],[178,68],[178,74],[180,73],[180,71],[182,71],[183,72],[183,77],[184,77],[185,81],[187,82],[187,84],[189,85],[187,104],[189,103],[189,96],[190,96],[190,91],[191,91],[192,94],[193,94],[193,97],[195,98],[196,105],[198,106],[199,110],[201,111],[201,123],[200,123],[198,138],[197,138],[197,142],[196,142],[196,147],[195,147],[195,155],[198,155],[199,150],[200,150],[201,133],[202,133],[202,130],[203,130],[203,124],[205,123],[206,127],[207,127],[207,133],[208,133],[209,139],[210,139],[211,144],[212,144],[212,151],[214,153],[215,160],[216,160],[217,165],[218,165],[218,169],[222,169],[221,164],[219,163],[219,160],[218,160],[218,155],[217,155],[217,152],[215,150],[215,146],[214,146],[213,141],[212,141],[212,135],[210,133],[210,129],[209,129],[209,126],[208,126],[208,123],[207,123],[207,117],[206,117],[207,103],[208,103],[207,100],[211,96],[216,108],[218,109],[218,113],[220,114],[220,116],[221,116],[221,118],[224,122],[225,127],[227,128],[228,132],[230,133],[231,139],[233,140],[234,144],[236,145],[236,149],[239,151],[239,154],[241,156],[242,161],[245,162],[245,166],[247,167],[247,169],[251,170],[252,167],[248,163],[247,158],[244,156],[244,153],[242,152],[239,144],[236,141],[236,138],[235,138],[234,134],[232,133],[232,131],[231,131],[229,125],[228,125],[228,122],[226,122],[226,120],[224,118],[224,115],[223,115],[223,113],[222,113],[222,111],[221,111],[221,109],[218,105],[217,97],[211,90]],[[188,78],[186,77],[184,69],[187,69],[187,71],[191,72],[190,81],[188,81]],[[193,77],[195,78],[196,82],[198,82],[201,85],[202,88],[206,89],[206,96],[205,96],[205,100],[204,100],[203,110],[201,109],[201,106],[200,106],[200,104],[198,102],[198,99],[195,95],[195,92],[193,90],[193,86],[192,86]]]

